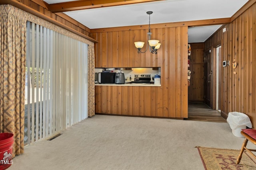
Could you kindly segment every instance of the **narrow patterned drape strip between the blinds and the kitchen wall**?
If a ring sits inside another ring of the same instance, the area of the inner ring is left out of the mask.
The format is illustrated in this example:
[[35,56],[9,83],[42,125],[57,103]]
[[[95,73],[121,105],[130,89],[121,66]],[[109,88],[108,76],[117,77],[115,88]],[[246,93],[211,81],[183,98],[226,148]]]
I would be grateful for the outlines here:
[[88,117],[95,115],[94,47],[88,46]]

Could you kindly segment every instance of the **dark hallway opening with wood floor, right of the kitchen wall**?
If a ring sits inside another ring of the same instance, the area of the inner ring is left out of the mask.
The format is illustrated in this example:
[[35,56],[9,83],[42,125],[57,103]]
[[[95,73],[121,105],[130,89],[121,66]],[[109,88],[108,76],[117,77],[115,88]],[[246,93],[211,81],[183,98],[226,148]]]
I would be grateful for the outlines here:
[[[221,68],[221,47],[216,47],[213,51],[210,49],[205,51],[204,43],[190,43],[190,46],[191,57],[188,69],[191,70],[191,78],[188,87],[188,118],[186,120],[226,122],[220,112],[213,109],[213,98],[216,100],[214,105],[220,102],[220,97],[214,97],[215,92],[218,92],[218,96],[220,95],[220,88],[214,90],[212,86],[217,78],[218,86],[220,86],[220,72],[218,71],[218,77],[216,77],[215,69]],[[217,54],[218,58],[215,56]]]

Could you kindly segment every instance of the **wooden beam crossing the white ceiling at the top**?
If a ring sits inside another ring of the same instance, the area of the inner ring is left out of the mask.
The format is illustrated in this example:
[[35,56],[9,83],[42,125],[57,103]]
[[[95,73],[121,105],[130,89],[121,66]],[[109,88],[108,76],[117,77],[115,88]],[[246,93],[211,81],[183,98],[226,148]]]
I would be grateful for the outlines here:
[[136,4],[141,2],[152,2],[158,0],[77,0],[71,2],[62,2],[57,4],[49,4],[50,12],[67,12],[74,10],[84,10],[90,8],[100,8],[107,6],[118,6],[126,4]]

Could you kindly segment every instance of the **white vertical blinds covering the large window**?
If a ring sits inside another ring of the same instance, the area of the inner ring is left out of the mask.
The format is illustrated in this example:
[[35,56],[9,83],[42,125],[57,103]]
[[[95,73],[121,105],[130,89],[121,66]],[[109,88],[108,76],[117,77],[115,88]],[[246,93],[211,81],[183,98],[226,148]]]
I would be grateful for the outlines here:
[[25,138],[48,139],[88,117],[88,45],[27,22]]

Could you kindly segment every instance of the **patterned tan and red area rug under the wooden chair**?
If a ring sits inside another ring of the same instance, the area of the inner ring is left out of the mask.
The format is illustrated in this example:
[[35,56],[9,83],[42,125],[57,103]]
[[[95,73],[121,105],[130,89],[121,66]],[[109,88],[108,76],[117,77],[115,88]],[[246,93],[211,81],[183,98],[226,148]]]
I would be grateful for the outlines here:
[[242,154],[241,162],[236,159],[240,150],[197,147],[206,170],[255,170],[256,160],[246,152]]

